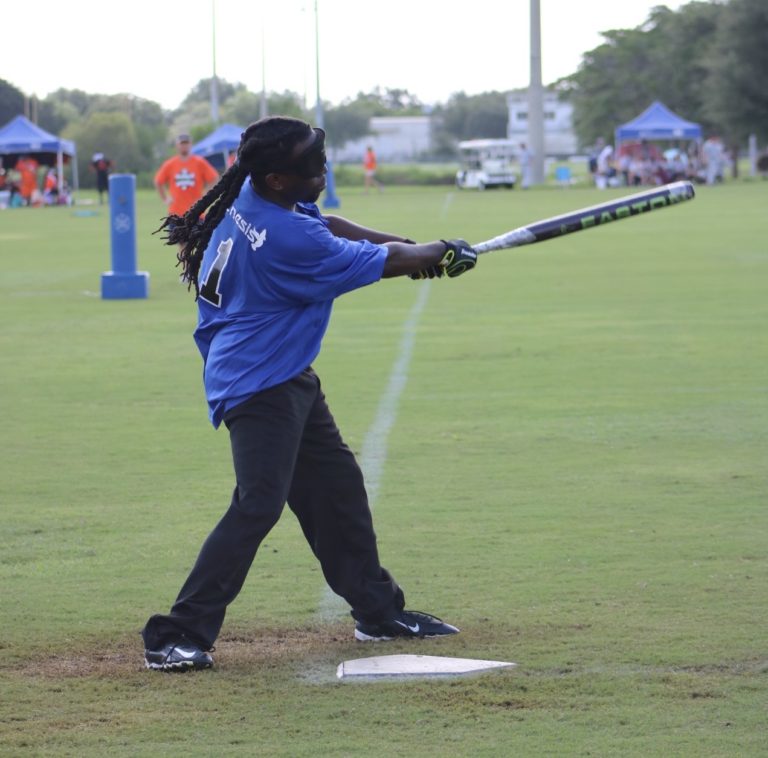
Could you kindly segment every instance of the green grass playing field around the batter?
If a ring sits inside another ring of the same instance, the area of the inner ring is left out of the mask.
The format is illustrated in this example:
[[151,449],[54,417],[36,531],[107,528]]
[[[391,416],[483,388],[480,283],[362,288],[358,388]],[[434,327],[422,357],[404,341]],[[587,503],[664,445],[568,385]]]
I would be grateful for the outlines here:
[[[478,241],[622,194],[341,193]],[[422,287],[374,506],[384,565],[445,640],[355,643],[286,510],[210,672],[145,671],[232,486],[193,298],[150,232],[150,297],[104,301],[108,214],[0,212],[0,754],[758,756],[768,749],[768,183],[341,298],[315,364],[360,447]],[[375,653],[495,658],[340,683]]]

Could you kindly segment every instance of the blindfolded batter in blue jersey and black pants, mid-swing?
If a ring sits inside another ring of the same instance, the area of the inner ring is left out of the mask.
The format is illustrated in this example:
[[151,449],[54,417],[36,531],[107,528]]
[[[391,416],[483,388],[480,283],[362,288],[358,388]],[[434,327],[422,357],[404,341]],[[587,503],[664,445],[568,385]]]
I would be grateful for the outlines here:
[[197,295],[210,420],[229,431],[236,483],[170,612],[142,631],[148,668],[213,665],[226,608],[286,502],[329,586],[349,603],[358,640],[459,631],[406,610],[380,564],[362,473],[311,364],[339,295],[387,277],[458,276],[477,254],[463,240],[419,245],[323,216],[315,203],[325,161],[321,129],[262,119],[243,132],[237,160],[208,195],[161,226]]

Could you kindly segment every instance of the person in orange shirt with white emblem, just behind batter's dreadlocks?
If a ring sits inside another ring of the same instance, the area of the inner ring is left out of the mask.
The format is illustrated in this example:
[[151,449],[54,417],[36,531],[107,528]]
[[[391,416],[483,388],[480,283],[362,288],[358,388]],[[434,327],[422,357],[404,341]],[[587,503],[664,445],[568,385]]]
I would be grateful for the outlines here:
[[192,155],[188,134],[176,138],[177,155],[155,174],[155,187],[168,206],[168,215],[183,216],[219,180],[216,169],[199,155]]

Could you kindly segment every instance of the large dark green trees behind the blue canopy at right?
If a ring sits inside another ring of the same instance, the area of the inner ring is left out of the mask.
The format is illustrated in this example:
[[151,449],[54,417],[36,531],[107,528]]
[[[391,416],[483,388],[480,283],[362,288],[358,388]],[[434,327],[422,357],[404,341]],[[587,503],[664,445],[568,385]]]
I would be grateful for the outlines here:
[[654,100],[733,147],[768,141],[768,2],[655,7],[635,29],[603,32],[576,73],[555,83],[582,144],[608,137]]

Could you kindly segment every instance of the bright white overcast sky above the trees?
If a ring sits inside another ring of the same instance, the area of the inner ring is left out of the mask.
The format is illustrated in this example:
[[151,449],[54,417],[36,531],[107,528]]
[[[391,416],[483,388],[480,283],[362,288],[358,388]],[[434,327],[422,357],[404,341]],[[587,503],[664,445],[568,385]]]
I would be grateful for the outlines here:
[[[317,0],[320,92],[338,104],[375,87],[445,102],[526,86],[529,0]],[[633,28],[645,0],[541,0],[545,84],[573,73],[606,29]],[[315,0],[34,0],[3,8],[2,73],[25,94],[128,92],[176,108],[213,70],[260,92],[316,100]],[[215,13],[214,13],[215,9]],[[262,56],[263,51],[263,56]],[[262,66],[262,59],[265,64]]]

